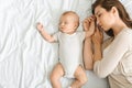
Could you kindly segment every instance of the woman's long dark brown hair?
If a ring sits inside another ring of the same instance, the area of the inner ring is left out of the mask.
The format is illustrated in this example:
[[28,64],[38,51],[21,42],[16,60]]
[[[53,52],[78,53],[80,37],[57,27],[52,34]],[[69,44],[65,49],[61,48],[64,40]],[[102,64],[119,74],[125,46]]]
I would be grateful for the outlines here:
[[[119,12],[119,16],[121,20],[127,24],[128,28],[132,29],[132,20],[129,16],[127,10],[124,9],[123,4],[119,0],[96,0],[92,4],[92,13],[95,14],[96,7],[102,7],[107,11],[110,11],[112,7],[116,7]],[[108,32],[106,32],[108,35],[113,36],[113,31],[110,29]]]

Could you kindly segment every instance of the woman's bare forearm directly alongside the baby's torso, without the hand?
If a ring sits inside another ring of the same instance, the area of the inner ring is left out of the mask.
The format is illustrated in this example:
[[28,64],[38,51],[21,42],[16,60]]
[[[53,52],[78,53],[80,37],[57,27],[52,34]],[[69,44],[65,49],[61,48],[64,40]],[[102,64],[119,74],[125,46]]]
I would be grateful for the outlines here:
[[84,43],[84,64],[86,69],[94,68],[91,38],[87,37]]

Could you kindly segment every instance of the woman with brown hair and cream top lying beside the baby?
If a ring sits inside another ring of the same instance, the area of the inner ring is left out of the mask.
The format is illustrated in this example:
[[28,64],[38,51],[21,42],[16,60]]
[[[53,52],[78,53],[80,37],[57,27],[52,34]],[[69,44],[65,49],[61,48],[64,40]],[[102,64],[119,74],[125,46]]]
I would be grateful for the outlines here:
[[[85,66],[99,77],[108,77],[111,88],[132,88],[132,21],[119,0],[96,0],[92,12],[97,25],[113,36],[102,51],[102,33],[96,29],[92,38],[85,41]],[[92,18],[86,19],[84,29]],[[89,45],[94,44],[94,50]],[[91,62],[92,58],[92,62]]]

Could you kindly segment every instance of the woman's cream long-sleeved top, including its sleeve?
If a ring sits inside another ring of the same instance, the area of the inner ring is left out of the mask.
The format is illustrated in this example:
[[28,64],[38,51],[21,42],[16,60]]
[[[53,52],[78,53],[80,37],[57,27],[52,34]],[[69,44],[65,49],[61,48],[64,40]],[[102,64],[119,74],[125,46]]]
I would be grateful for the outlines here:
[[122,30],[95,63],[94,72],[109,78],[111,88],[132,88],[132,30]]

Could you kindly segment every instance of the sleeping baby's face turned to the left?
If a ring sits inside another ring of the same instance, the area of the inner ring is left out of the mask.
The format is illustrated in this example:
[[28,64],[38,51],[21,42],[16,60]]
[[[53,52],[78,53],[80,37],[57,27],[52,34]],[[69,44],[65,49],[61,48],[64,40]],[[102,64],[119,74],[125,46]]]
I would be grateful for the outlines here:
[[74,33],[78,26],[78,22],[75,19],[73,14],[62,15],[59,20],[59,30],[67,34]]

